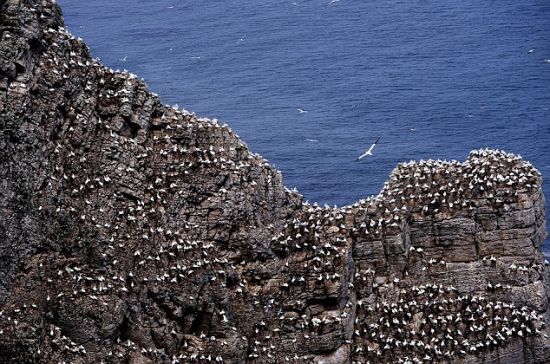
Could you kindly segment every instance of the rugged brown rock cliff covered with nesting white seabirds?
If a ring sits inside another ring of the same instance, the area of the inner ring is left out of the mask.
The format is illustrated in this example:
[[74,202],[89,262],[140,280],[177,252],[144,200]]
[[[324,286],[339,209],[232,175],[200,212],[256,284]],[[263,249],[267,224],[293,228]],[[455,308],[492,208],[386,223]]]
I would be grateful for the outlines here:
[[0,361],[550,361],[528,162],[411,162],[308,205],[91,59],[51,1],[0,9]]

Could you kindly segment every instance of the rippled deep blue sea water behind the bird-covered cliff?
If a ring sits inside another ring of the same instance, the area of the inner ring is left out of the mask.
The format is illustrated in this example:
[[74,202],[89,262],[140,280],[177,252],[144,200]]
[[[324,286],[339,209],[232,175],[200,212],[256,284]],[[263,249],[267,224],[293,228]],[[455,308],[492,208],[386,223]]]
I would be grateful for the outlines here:
[[59,2],[95,57],[230,124],[310,201],[349,204],[399,162],[485,147],[550,191],[547,0]]

